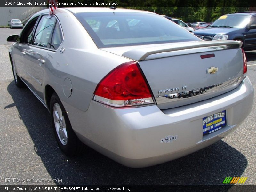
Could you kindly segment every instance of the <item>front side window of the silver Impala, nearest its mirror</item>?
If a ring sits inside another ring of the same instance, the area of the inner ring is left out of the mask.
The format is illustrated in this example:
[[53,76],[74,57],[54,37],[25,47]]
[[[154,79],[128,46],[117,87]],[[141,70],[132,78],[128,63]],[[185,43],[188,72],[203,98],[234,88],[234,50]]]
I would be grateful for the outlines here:
[[32,43],[32,35],[33,29],[36,25],[38,17],[29,21],[26,27],[23,28],[21,36],[20,36],[20,43],[31,44]]

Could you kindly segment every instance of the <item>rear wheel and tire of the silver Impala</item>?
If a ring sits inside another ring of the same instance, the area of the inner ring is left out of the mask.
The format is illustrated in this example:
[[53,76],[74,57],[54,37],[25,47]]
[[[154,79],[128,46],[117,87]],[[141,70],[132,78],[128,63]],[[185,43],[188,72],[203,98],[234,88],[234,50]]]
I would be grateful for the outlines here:
[[50,100],[52,129],[61,151],[67,156],[81,155],[86,146],[77,138],[68,114],[56,93]]

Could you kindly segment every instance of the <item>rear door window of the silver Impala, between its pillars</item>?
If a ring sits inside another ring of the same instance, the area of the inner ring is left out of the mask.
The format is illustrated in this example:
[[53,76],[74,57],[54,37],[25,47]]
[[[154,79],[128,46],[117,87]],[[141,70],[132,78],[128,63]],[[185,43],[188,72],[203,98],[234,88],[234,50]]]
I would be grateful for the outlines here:
[[55,17],[49,18],[48,15],[44,15],[39,21],[33,44],[36,46],[47,47],[51,40],[51,33],[56,21]]

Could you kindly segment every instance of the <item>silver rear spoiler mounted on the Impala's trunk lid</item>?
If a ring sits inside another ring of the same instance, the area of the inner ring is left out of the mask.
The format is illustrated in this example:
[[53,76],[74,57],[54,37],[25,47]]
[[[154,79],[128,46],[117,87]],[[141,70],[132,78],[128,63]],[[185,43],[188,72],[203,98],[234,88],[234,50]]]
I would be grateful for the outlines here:
[[212,46],[229,46],[232,48],[241,48],[243,42],[241,41],[193,41],[193,42],[185,42],[185,43],[173,43],[162,46],[148,47],[144,49],[133,49],[127,52],[124,52],[122,56],[130,58],[135,61],[145,60],[149,55],[163,53],[163,52],[171,52],[171,51],[179,51],[185,49],[193,49],[193,48],[201,48],[201,47],[212,47]]

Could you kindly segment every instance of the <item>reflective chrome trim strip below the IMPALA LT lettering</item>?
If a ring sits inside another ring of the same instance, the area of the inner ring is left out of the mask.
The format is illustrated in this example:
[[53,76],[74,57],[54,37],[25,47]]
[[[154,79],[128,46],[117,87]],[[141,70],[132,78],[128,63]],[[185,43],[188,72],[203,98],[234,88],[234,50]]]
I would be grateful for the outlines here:
[[[168,104],[171,102],[180,102],[181,100],[186,100],[186,104],[189,104],[190,100],[192,101],[191,103],[201,101],[204,99],[209,99],[211,97],[223,94],[225,90],[230,91],[234,88],[236,88],[241,81],[243,80],[243,76],[236,77],[234,79],[228,80],[226,82],[220,83],[220,84],[215,84],[207,87],[201,87],[201,88],[196,88],[193,90],[183,90],[182,92],[172,92],[172,93],[165,93],[164,95],[157,95],[155,96],[156,103],[157,105],[159,104]],[[196,99],[196,100],[195,100]],[[181,105],[184,105],[181,104]],[[177,106],[176,106],[177,107]]]

